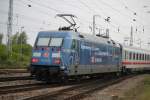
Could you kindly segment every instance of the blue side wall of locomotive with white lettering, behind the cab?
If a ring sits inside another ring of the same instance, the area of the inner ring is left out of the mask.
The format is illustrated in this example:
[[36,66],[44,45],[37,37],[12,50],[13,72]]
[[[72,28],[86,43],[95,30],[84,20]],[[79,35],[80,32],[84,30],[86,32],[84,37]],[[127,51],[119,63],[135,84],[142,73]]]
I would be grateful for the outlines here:
[[[95,38],[94,38],[95,39]],[[119,46],[89,38],[79,39],[79,63],[70,67],[69,75],[98,74],[121,71],[121,50]],[[104,42],[106,41],[106,42]]]

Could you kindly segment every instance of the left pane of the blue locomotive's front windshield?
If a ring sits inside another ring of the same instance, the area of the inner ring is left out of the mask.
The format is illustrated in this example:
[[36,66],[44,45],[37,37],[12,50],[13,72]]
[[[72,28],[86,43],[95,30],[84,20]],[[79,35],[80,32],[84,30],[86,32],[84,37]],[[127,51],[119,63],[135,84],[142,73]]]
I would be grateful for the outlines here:
[[48,46],[49,40],[49,37],[39,37],[36,46]]

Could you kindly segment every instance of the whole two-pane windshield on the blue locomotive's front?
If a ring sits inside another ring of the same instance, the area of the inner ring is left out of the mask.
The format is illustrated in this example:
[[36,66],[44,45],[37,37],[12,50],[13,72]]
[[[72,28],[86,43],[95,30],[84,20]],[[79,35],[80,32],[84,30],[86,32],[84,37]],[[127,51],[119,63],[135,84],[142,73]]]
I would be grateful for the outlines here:
[[36,46],[61,46],[63,38],[39,37]]

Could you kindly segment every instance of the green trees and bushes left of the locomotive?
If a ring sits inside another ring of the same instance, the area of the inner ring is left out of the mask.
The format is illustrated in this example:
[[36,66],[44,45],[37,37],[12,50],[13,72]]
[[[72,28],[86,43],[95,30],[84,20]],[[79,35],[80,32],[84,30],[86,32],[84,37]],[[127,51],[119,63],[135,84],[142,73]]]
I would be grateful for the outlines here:
[[25,32],[12,36],[12,53],[8,56],[7,46],[0,44],[0,68],[25,68],[30,63],[32,46],[27,44]]

